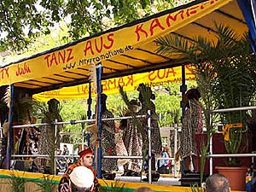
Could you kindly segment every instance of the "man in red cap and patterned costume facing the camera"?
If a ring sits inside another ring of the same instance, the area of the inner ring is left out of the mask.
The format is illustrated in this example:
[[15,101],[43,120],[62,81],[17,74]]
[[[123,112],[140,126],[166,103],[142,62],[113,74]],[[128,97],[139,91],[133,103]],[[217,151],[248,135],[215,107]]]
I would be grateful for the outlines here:
[[[94,186],[93,186],[93,189],[91,189],[90,191],[93,191],[93,192],[99,191],[98,189],[99,183],[98,183],[98,179],[96,178],[96,171],[92,167],[93,158],[94,158],[93,150],[91,148],[86,148],[83,151],[80,151],[78,163],[68,166],[67,171],[62,175],[61,181],[58,187],[58,192],[71,192],[69,188],[70,175],[73,172],[74,168],[78,166],[85,166],[88,169],[90,169],[91,172],[93,172]],[[84,175],[84,177],[86,177],[86,175]],[[83,178],[81,178],[81,180],[82,179]]]

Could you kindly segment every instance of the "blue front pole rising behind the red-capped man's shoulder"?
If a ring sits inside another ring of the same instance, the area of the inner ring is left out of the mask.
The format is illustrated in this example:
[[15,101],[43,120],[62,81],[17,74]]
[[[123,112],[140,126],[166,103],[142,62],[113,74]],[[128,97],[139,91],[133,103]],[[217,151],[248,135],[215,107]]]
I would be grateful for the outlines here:
[[98,142],[99,147],[97,148],[97,177],[102,178],[102,105],[101,105],[101,94],[102,94],[102,64],[96,66],[96,79],[97,79],[97,121],[96,125],[99,126],[98,131]]

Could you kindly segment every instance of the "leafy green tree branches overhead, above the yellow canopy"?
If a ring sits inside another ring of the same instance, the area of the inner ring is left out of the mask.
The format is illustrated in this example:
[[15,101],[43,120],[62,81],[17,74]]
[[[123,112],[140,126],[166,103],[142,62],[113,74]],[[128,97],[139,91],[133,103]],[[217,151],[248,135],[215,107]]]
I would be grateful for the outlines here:
[[[1,0],[0,51],[22,50],[65,21],[73,40],[170,9],[187,0]],[[67,38],[63,37],[63,38]]]

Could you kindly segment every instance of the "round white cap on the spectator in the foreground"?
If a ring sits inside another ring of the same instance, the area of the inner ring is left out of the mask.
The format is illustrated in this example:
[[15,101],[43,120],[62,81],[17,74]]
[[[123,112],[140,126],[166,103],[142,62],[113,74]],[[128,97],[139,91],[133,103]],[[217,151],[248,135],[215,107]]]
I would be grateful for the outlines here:
[[77,166],[69,175],[72,183],[80,188],[90,188],[93,185],[93,172],[85,166]]

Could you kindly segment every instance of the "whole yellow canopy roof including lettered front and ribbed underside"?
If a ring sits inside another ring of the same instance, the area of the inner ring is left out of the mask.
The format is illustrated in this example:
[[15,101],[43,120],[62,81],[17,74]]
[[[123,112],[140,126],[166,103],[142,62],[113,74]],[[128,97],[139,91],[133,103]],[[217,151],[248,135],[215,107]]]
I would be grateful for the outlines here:
[[0,86],[14,84],[32,94],[88,83],[90,65],[102,62],[102,79],[177,67],[183,55],[159,55],[154,39],[166,34],[185,38],[203,36],[215,41],[213,21],[247,32],[247,23],[236,0],[195,1],[136,20],[0,69]]

